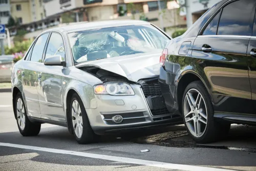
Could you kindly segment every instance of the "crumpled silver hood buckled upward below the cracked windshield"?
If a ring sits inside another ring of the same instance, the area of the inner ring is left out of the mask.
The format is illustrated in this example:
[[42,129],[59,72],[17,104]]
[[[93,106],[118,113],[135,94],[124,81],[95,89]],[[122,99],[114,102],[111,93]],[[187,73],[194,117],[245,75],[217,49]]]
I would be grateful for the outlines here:
[[142,78],[158,77],[160,71],[159,53],[143,53],[110,57],[105,59],[82,62],[77,68],[84,66],[95,66],[101,69],[119,74],[130,81],[137,82]]

